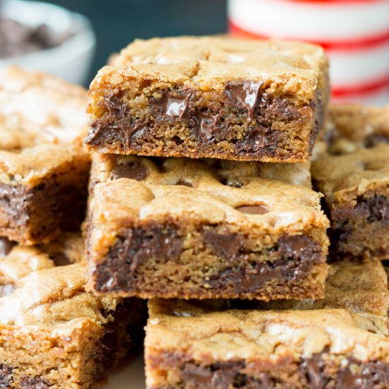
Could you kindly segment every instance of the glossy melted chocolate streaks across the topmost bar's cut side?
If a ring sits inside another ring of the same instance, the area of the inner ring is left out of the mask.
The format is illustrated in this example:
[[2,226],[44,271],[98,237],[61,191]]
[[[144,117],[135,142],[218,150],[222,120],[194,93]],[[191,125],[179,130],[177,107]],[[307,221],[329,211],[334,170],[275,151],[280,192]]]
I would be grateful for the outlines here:
[[[231,127],[235,124],[226,121],[224,115],[231,112],[241,112],[247,115],[247,130],[243,139],[235,142],[237,153],[257,153],[265,147],[276,146],[279,134],[270,129],[269,121],[277,117],[282,120],[296,120],[300,117],[297,108],[291,107],[287,98],[277,98],[261,91],[262,82],[258,81],[231,81],[226,83],[223,91],[224,102],[221,103],[219,112],[211,112],[207,107],[197,108],[191,106],[191,101],[196,98],[194,91],[163,91],[161,98],[149,99],[150,110],[153,115],[151,122],[140,122],[128,115],[127,105],[120,100],[118,95],[110,93],[103,100],[108,117],[95,120],[91,132],[88,134],[87,143],[91,143],[99,136],[101,130],[113,129],[124,134],[125,145],[131,146],[132,137],[135,134],[146,132],[158,122],[189,122],[195,136],[202,141],[217,142],[228,137]],[[223,112],[222,112],[223,111]],[[252,124],[256,118],[257,122]],[[263,124],[263,120],[267,122]],[[262,124],[260,124],[262,123]]]

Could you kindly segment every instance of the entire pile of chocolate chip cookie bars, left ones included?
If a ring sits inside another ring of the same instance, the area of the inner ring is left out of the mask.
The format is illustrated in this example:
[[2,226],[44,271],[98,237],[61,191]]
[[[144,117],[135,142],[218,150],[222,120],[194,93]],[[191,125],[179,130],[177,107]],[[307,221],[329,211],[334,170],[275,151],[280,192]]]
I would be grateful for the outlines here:
[[327,67],[176,37],[122,50],[89,105],[2,76],[0,388],[104,382],[147,299],[148,389],[389,388],[389,106],[328,107]]

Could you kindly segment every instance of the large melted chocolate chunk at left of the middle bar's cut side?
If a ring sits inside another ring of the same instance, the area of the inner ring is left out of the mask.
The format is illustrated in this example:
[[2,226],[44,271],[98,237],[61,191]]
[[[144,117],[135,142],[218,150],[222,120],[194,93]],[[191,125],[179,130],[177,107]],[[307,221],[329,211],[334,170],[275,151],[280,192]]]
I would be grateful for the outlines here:
[[175,226],[153,224],[129,229],[110,249],[105,265],[95,269],[96,289],[127,290],[129,278],[136,277],[134,274],[142,263],[151,258],[176,260],[182,250],[182,240]]

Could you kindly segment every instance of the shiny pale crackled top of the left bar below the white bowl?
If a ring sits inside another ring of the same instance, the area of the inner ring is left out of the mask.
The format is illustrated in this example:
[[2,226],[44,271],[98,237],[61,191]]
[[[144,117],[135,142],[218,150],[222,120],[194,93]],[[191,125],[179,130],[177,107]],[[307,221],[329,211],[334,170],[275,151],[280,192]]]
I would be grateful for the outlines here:
[[0,181],[28,185],[83,154],[86,91],[10,68],[0,77]]

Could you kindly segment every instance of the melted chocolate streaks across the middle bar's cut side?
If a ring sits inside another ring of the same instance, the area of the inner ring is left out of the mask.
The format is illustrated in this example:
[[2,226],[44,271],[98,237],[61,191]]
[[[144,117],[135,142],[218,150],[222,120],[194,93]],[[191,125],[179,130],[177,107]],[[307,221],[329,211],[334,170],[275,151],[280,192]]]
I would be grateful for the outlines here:
[[[213,228],[204,229],[202,236],[205,247],[231,262],[209,280],[215,290],[223,289],[226,282],[233,282],[237,293],[258,291],[267,281],[284,283],[303,279],[313,266],[324,262],[320,245],[308,236],[284,236],[269,249],[274,254],[272,262],[247,263],[241,267],[246,262],[241,260],[248,255],[243,236],[217,233]],[[180,232],[174,226],[153,224],[148,228],[130,229],[95,267],[95,289],[132,291],[137,288],[142,264],[151,259],[179,261],[183,251]]]

